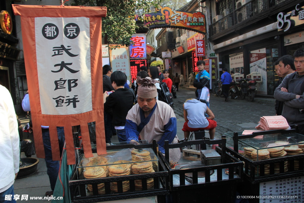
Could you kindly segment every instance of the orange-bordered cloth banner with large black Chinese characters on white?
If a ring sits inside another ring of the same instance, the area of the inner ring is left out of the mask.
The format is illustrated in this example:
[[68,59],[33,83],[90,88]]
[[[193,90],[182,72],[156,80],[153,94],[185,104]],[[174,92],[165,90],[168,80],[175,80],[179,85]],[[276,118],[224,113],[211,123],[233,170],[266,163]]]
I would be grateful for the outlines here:
[[77,125],[85,157],[92,157],[88,123],[94,121],[97,153],[105,154],[101,17],[106,8],[15,4],[12,8],[21,16],[37,157],[45,157],[41,125],[49,126],[53,160],[60,160],[56,127],[64,127],[67,164],[75,164],[72,126]]

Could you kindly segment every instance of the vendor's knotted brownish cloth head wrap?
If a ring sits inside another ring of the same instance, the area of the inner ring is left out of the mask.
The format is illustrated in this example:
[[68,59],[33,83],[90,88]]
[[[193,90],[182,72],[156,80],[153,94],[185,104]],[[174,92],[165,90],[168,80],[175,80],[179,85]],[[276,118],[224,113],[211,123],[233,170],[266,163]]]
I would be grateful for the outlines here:
[[137,96],[147,99],[157,97],[157,89],[155,86],[157,82],[157,80],[152,80],[150,77],[141,78],[137,76],[137,83],[140,84],[137,89]]

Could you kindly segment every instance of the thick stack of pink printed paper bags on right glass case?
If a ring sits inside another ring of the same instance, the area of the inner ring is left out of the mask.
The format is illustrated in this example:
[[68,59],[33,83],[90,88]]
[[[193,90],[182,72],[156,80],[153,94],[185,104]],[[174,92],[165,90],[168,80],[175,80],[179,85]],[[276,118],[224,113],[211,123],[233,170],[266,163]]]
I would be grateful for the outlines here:
[[263,116],[255,128],[263,130],[286,130],[289,128],[289,125],[283,116]]

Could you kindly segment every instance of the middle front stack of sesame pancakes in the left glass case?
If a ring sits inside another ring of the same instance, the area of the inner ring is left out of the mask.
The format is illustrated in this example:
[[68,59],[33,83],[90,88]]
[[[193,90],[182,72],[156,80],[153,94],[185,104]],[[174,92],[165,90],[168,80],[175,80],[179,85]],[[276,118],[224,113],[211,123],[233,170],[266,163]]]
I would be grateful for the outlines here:
[[[113,165],[109,167],[109,177],[113,176],[126,176],[130,175],[131,163],[130,161],[119,160],[112,163]],[[117,182],[111,183],[111,190],[118,192]],[[123,192],[126,192],[130,189],[129,181],[123,181]]]

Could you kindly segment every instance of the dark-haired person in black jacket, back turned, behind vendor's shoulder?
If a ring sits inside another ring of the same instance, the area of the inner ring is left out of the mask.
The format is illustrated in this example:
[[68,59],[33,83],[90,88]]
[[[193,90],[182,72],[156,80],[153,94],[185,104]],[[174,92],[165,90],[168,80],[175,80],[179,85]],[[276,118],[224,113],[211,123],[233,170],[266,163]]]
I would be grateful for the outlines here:
[[110,79],[115,92],[110,93],[110,95],[107,92],[103,94],[104,109],[106,112],[112,110],[112,126],[115,126],[118,140],[126,142],[126,116],[134,105],[133,89],[124,88],[127,76],[121,71],[114,71]]

